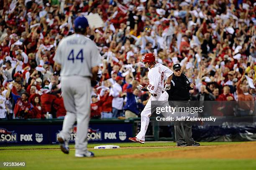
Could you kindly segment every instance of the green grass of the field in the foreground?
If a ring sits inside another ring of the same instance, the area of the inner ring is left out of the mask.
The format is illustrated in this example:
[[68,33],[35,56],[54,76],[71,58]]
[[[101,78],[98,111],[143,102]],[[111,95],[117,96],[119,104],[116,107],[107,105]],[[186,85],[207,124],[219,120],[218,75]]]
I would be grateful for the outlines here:
[[[238,142],[201,142],[202,145],[223,145]],[[240,142],[239,142],[240,143]],[[92,148],[96,145],[89,144]],[[108,144],[110,145],[110,144]],[[147,142],[144,145],[138,143],[114,144],[120,147],[149,147],[149,146],[175,146],[174,142]],[[74,147],[74,145],[72,145]],[[94,169],[94,170],[126,170],[135,168],[138,170],[255,170],[255,160],[232,160],[232,159],[163,159],[163,158],[118,158],[118,155],[147,154],[161,151],[182,150],[181,147],[169,148],[125,148],[113,150],[92,150],[95,158],[76,158],[74,150],[69,155],[63,154],[58,145],[44,146],[13,146],[0,147],[0,162],[20,162],[25,161],[26,167],[17,169],[29,170],[74,170],[74,169]],[[33,150],[26,150],[33,149]],[[42,149],[42,150],[39,150]],[[49,149],[49,150],[46,150]],[[51,150],[52,149],[52,150]],[[56,149],[56,150],[55,150]],[[209,153],[210,154],[210,153]],[[115,156],[111,158],[109,156]],[[0,166],[1,169],[1,166]],[[3,170],[14,169],[2,167]]]

